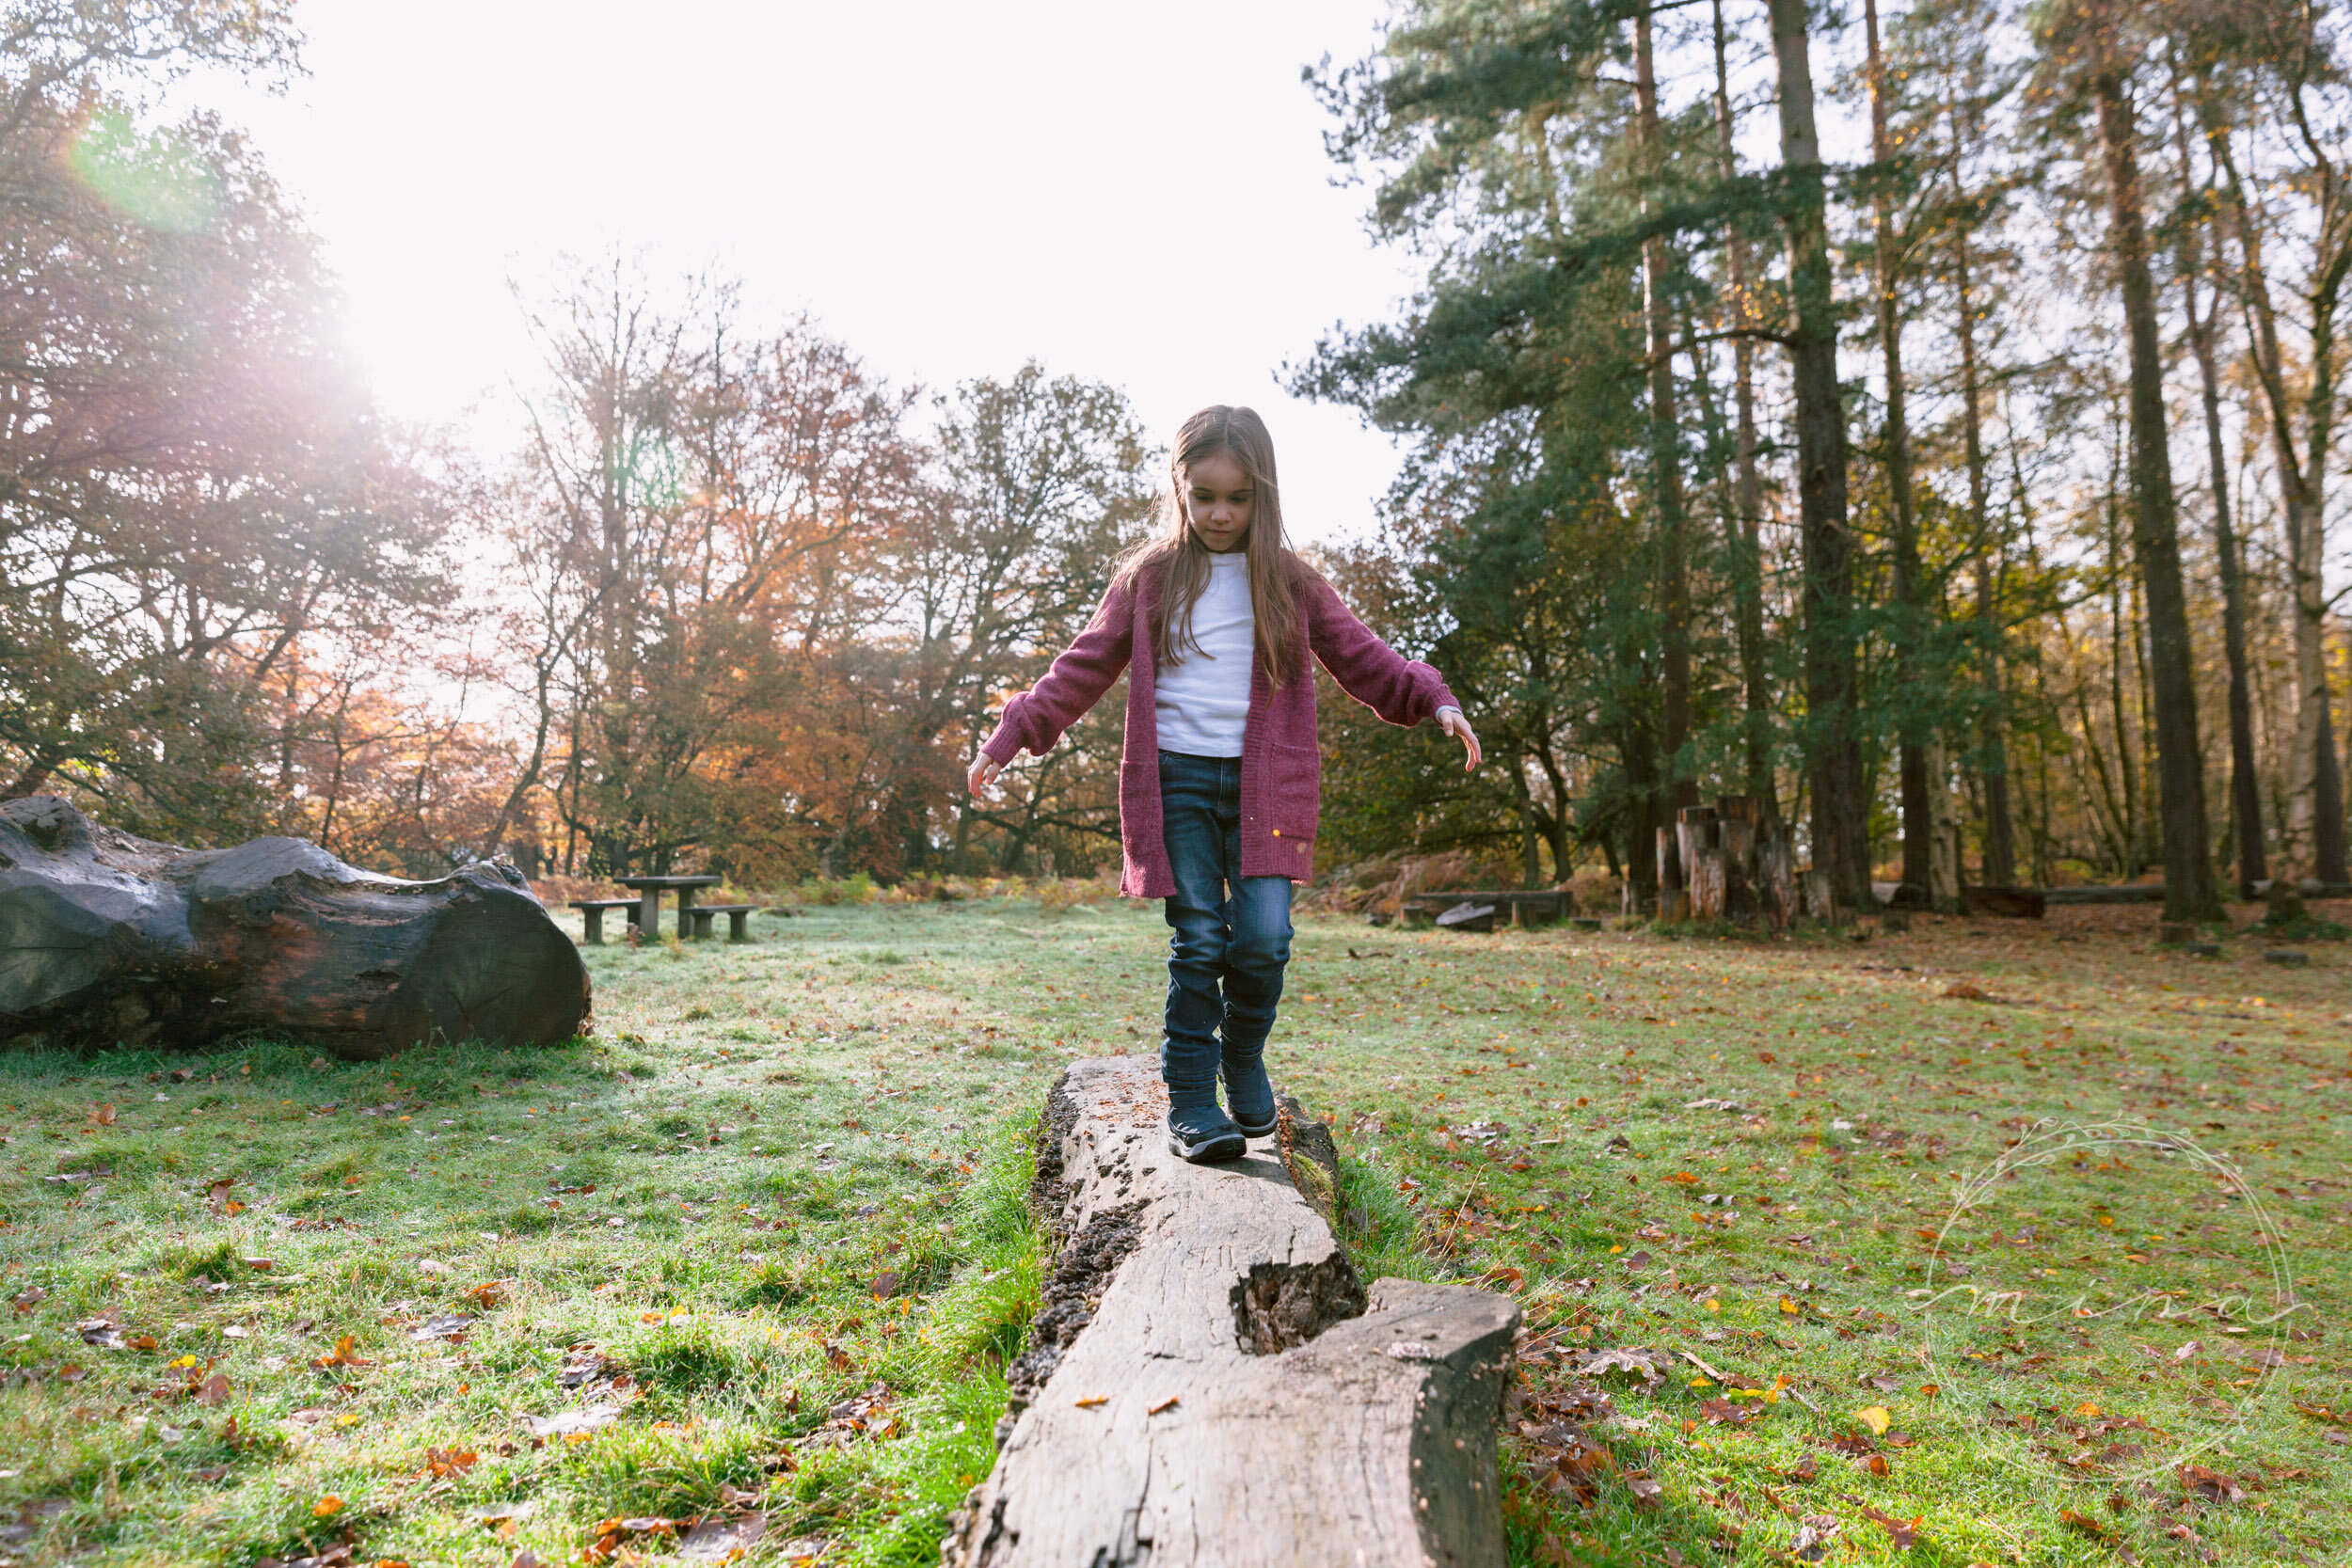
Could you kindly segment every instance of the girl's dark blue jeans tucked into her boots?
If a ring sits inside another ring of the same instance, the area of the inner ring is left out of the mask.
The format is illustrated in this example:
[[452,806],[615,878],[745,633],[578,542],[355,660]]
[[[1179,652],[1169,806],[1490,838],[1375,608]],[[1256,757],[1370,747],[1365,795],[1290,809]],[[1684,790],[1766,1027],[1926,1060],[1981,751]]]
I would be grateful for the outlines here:
[[1256,1063],[1275,1027],[1291,961],[1291,879],[1242,875],[1240,757],[1160,752],[1160,816],[1176,872],[1160,1077],[1171,1107],[1207,1107],[1218,1058]]

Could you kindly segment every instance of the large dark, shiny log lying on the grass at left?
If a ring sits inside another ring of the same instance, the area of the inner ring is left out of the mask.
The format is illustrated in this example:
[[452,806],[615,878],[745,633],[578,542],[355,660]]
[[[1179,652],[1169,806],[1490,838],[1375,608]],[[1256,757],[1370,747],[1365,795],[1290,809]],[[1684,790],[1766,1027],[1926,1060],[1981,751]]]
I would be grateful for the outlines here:
[[0,804],[0,1039],[275,1034],[367,1060],[586,1018],[579,950],[513,867],[400,882],[303,839],[186,851],[54,795]]

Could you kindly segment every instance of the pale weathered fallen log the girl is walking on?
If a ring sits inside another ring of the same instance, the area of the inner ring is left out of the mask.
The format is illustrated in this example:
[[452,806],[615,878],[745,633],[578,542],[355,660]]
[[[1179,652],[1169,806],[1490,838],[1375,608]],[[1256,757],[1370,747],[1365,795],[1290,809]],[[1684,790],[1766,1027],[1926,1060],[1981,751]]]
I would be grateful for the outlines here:
[[1517,1305],[1367,1291],[1327,1218],[1331,1135],[1287,1098],[1277,1135],[1228,1166],[1167,1152],[1148,1056],[1073,1063],[1044,1114],[1035,1197],[1058,1260],[946,1563],[1503,1563]]

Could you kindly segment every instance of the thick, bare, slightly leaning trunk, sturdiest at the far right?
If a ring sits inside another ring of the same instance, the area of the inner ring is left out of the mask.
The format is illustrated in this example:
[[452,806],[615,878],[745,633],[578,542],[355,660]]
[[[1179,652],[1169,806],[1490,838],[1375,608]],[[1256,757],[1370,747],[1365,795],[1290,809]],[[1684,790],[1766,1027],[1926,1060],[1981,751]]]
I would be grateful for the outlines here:
[[2100,14],[2093,31],[2098,59],[2091,94],[2098,101],[2110,240],[2122,275],[2124,322],[2131,331],[2131,529],[2147,588],[2157,795],[2164,820],[2164,917],[2220,919],[2220,889],[2206,849],[2204,748],[2197,743],[2197,668],[2187,588],[2180,578],[2180,520],[2164,414],[2164,348],[2157,339],[2157,292],[2147,275],[2147,226],[2140,214],[2138,125],[2126,96],[2124,66],[2114,59],[2114,40],[2103,28],[2112,28],[2110,14]]

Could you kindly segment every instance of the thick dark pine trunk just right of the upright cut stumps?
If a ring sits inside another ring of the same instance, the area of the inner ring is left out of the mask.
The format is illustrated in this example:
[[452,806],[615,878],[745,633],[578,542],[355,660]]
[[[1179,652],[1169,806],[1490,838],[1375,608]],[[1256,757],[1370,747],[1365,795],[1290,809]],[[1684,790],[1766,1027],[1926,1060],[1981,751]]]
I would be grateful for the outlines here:
[[1806,0],[1771,0],[1780,78],[1780,162],[1790,176],[1788,275],[1795,301],[1790,381],[1797,393],[1797,531],[1804,552],[1806,773],[1813,867],[1844,907],[1870,903],[1870,818],[1863,792],[1853,628],[1853,534],[1846,527],[1846,409],[1837,390],[1837,301]]

